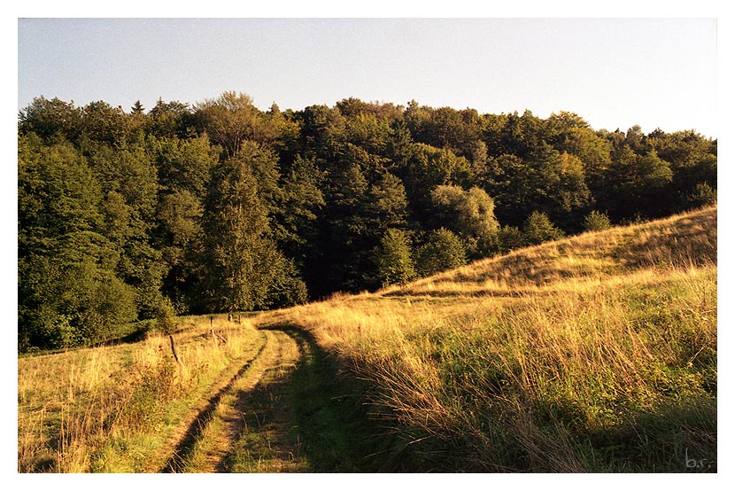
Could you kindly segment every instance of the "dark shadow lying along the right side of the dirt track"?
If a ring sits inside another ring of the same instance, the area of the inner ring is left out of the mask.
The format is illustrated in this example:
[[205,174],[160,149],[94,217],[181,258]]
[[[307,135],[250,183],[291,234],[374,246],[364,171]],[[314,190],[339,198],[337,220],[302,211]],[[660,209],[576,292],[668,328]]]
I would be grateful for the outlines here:
[[[313,336],[288,323],[261,328],[285,332],[298,345],[298,365],[248,397],[244,432],[219,465],[221,472],[394,472],[402,464],[381,451],[385,431],[369,412],[360,381]],[[390,440],[390,439],[389,439]],[[268,467],[269,459],[279,467]],[[260,463],[266,463],[262,466]],[[285,464],[283,464],[285,463]]]

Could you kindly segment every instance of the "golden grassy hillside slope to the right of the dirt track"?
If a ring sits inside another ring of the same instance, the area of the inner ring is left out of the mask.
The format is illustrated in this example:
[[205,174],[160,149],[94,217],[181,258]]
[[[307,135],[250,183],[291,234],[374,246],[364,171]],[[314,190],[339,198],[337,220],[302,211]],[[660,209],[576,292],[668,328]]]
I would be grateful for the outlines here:
[[366,380],[403,468],[707,472],[716,284],[710,207],[256,322],[311,331]]

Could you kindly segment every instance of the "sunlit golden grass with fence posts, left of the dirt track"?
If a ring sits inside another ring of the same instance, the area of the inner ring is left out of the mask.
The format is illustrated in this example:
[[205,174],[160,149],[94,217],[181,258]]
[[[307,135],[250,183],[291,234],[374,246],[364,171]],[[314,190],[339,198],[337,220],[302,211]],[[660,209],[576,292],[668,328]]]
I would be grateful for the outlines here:
[[248,321],[180,323],[178,363],[162,334],[135,345],[20,358],[19,472],[157,471],[177,424],[262,344]]

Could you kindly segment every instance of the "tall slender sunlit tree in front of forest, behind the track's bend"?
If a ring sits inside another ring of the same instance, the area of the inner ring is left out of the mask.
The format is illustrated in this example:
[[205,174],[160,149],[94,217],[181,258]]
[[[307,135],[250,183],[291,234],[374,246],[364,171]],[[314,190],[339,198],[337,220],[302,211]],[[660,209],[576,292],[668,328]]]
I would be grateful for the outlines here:
[[306,301],[306,285],[298,270],[271,237],[266,199],[268,193],[279,191],[273,162],[270,152],[246,141],[235,156],[214,169],[203,214],[206,279],[202,287],[204,307],[210,311],[247,311]]

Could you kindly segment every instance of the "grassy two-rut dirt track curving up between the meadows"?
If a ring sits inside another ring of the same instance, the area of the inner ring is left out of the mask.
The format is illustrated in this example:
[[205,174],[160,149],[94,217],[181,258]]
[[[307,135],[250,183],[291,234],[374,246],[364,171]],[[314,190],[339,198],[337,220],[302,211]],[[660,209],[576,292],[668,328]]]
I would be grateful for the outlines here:
[[213,396],[161,472],[373,470],[365,405],[329,355],[293,325],[261,331],[259,354]]

